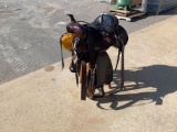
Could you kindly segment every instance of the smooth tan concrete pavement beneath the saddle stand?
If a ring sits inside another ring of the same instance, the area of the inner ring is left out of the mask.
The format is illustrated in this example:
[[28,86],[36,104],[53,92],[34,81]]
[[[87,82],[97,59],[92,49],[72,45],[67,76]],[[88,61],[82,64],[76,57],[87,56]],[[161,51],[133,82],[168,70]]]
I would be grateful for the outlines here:
[[[125,88],[116,92],[114,72],[115,94],[103,100],[80,100],[60,62],[0,85],[0,132],[176,132],[176,23],[177,15],[129,34]],[[117,51],[107,52],[115,66]]]

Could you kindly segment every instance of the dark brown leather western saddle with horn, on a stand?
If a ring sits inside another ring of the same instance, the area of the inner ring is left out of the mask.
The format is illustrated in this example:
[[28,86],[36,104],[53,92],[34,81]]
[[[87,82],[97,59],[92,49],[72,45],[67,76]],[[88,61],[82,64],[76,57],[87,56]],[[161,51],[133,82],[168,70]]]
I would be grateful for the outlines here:
[[[63,41],[63,36],[70,34],[71,36],[69,38],[70,44],[69,43],[67,44],[71,45],[70,47],[72,47],[72,50],[71,48],[70,50],[65,48],[65,50],[72,52],[73,59],[70,65],[70,70],[72,73],[75,73],[76,85],[79,85],[79,75],[80,75],[79,64],[81,64],[81,62],[84,61],[85,63],[90,63],[91,69],[94,69],[95,66],[97,65],[96,64],[97,62],[104,62],[104,59],[101,58],[100,54],[105,53],[106,50],[110,48],[110,46],[118,48],[117,63],[115,67],[116,70],[119,61],[119,54],[124,51],[124,46],[128,42],[127,32],[123,26],[118,25],[117,18],[113,14],[104,13],[97,16],[92,23],[86,23],[83,21],[76,21],[73,14],[67,14],[67,15],[71,19],[71,22],[66,25],[66,33],[62,35],[62,37],[60,38],[62,67],[64,67],[62,47],[63,48],[66,47]],[[83,22],[84,24],[81,24],[81,22]],[[97,56],[100,56],[98,58],[100,61],[97,61]],[[106,56],[105,59],[108,59],[108,57]],[[112,68],[112,66],[110,66],[110,68]],[[111,73],[112,72],[113,70],[111,70]],[[97,75],[102,76],[101,70]],[[96,77],[97,79],[100,79],[98,76]],[[112,74],[108,74],[108,76],[110,77],[107,78],[113,78]],[[111,81],[112,79],[110,79],[108,82]]]

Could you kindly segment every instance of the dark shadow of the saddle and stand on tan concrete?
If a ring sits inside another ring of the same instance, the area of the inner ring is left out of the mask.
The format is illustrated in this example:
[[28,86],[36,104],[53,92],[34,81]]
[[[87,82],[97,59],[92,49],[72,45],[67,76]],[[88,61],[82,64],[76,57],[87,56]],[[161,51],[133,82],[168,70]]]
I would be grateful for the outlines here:
[[[97,101],[96,106],[101,109],[105,109],[102,107],[104,103],[111,103],[110,109],[121,110],[133,107],[136,102],[143,100],[147,100],[148,103],[163,105],[165,96],[177,90],[177,67],[152,65],[135,70],[125,70],[125,85],[121,91],[119,72],[114,72],[113,81],[116,84],[116,87],[107,91],[105,98],[95,100]],[[134,92],[137,90],[140,92]],[[127,103],[118,106],[123,101]]]

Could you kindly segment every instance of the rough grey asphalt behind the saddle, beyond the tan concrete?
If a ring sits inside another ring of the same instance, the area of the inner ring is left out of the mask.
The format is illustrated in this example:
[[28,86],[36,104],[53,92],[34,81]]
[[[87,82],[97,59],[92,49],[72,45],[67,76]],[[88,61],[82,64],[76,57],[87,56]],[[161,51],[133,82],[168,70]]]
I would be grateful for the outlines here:
[[[115,4],[104,0],[0,0],[0,85],[61,61],[59,38],[69,23],[66,13],[93,22],[110,9]],[[174,8],[119,24],[129,34],[176,14]]]

